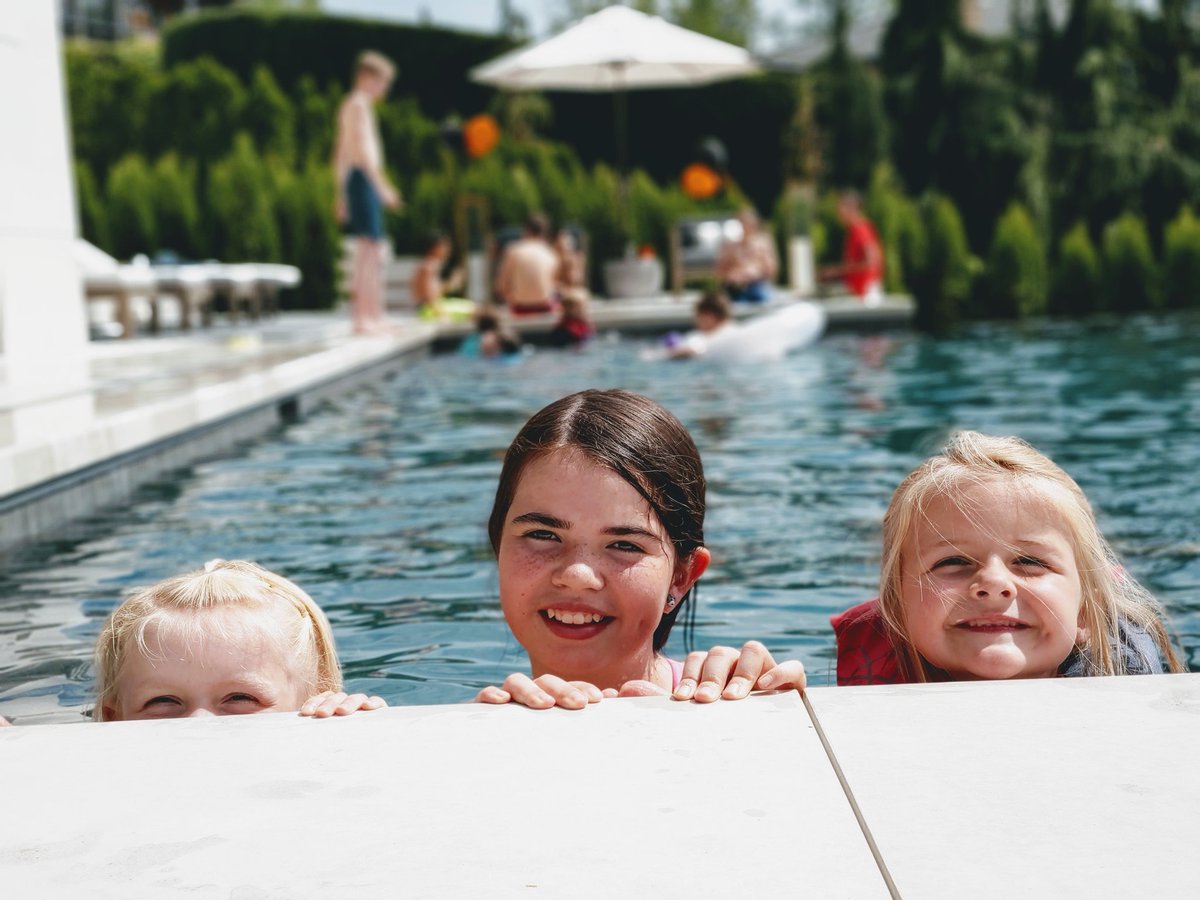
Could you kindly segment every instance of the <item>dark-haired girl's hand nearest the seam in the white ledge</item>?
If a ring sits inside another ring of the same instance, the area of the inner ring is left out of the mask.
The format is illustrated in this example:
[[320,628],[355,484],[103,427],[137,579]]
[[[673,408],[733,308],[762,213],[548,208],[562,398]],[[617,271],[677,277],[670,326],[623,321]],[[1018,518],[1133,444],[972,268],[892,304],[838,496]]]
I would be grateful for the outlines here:
[[758,641],[748,641],[740,650],[714,647],[708,653],[689,653],[676,700],[712,703],[714,700],[742,700],[756,690],[804,690],[804,665],[799,660],[776,664]]

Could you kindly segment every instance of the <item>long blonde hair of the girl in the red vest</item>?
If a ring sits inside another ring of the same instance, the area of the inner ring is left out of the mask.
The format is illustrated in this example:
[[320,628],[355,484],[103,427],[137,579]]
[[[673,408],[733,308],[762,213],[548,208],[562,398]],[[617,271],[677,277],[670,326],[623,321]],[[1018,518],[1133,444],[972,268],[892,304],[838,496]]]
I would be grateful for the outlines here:
[[1120,652],[1120,624],[1144,629],[1158,646],[1171,672],[1182,672],[1158,601],[1128,575],[1096,524],[1096,515],[1075,480],[1049,457],[1020,438],[1001,438],[964,431],[950,438],[938,455],[930,457],[900,482],[883,516],[883,562],[880,570],[880,612],[898,649],[904,674],[910,680],[930,680],[930,666],[908,638],[906,611],[900,600],[904,583],[904,545],[928,508],[947,499],[971,518],[980,510],[968,508],[964,488],[1008,481],[1024,488],[1039,503],[1057,512],[1079,569],[1082,604],[1081,623],[1087,643],[1080,647],[1087,674],[1124,674]]

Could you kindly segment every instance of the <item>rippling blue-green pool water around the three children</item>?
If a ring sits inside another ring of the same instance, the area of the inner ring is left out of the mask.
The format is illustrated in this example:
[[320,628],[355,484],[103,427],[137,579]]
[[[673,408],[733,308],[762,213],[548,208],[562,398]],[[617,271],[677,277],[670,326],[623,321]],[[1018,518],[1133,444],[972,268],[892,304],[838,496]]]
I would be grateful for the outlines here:
[[[256,559],[329,612],[350,688],[469,700],[527,661],[500,616],[485,523],[505,448],[574,390],[647,394],[709,480],[695,642],[757,637],[833,680],[829,616],[875,594],[900,479],[959,427],[1015,433],[1088,493],[1127,568],[1200,664],[1195,316],[978,325],[941,340],[832,335],[778,362],[643,361],[644,343],[517,365],[420,360],[308,419],[31,546],[0,576],[0,713],[82,721],[91,644],[130,589]],[[679,629],[668,652],[683,653]]]

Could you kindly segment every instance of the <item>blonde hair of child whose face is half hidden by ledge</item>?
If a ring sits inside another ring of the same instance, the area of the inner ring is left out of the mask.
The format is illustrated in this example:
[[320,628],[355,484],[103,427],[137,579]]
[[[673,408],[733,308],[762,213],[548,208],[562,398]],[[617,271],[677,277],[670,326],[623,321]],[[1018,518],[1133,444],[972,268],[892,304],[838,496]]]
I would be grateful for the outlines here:
[[342,671],[334,632],[320,607],[287,578],[244,560],[214,559],[204,569],[144,588],[118,606],[96,638],[97,721],[114,706],[121,672],[131,653],[152,658],[151,626],[169,624],[200,640],[212,623],[197,613],[244,610],[272,617],[290,653],[293,671],[310,692],[341,690]]

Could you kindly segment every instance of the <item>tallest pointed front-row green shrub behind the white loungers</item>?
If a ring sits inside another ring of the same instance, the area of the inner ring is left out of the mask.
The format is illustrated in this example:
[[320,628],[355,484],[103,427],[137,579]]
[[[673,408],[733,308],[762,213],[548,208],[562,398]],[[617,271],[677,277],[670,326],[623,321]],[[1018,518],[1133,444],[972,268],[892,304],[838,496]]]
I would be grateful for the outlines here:
[[[233,152],[209,173],[210,250],[227,263],[266,263],[280,258],[271,180],[254,143],[241,133]],[[332,193],[326,198],[332,203]]]

